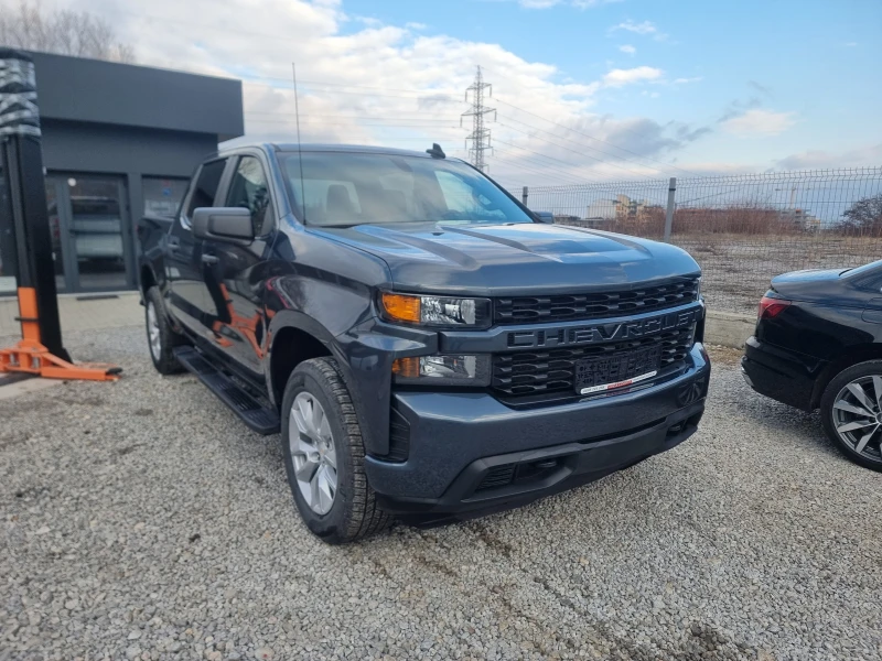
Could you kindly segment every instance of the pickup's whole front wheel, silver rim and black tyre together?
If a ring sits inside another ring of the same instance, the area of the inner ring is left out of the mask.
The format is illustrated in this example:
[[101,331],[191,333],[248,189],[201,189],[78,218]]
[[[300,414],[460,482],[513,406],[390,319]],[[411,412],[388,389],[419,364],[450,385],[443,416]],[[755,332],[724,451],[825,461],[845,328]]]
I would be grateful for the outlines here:
[[313,534],[344,544],[389,525],[367,484],[362,431],[336,360],[313,358],[291,372],[281,432],[288,484]]

